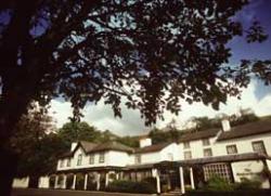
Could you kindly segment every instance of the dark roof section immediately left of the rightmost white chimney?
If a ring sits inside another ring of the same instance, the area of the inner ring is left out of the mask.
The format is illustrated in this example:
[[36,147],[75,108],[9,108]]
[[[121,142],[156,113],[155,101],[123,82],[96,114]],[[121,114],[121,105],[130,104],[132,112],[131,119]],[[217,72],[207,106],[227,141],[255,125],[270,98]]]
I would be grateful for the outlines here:
[[179,142],[189,142],[189,141],[216,136],[219,131],[220,131],[219,128],[214,128],[214,129],[208,129],[208,130],[198,131],[198,132],[183,133],[180,136]]

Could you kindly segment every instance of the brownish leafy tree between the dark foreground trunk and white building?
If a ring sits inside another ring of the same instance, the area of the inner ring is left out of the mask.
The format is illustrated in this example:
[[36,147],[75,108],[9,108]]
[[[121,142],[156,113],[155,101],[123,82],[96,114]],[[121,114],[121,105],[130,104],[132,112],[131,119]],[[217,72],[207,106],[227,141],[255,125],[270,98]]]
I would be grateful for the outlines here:
[[10,147],[18,156],[18,177],[38,177],[55,169],[56,157],[65,148],[53,128],[46,108],[37,105],[16,125],[16,134],[11,138]]

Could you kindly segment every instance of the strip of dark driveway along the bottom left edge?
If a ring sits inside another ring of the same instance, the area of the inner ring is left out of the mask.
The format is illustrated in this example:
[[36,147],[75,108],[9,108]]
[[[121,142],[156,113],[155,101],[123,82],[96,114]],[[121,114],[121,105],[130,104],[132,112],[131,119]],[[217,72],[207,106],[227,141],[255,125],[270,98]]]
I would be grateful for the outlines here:
[[151,196],[151,194],[126,194],[126,193],[87,192],[87,191],[69,191],[69,190],[15,188],[12,192],[12,196]]

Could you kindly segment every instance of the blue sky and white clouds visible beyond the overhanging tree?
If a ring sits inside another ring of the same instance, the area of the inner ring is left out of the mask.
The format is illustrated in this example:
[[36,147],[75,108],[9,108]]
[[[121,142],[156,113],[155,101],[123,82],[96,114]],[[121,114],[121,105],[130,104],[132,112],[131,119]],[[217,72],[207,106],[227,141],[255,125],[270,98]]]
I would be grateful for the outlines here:
[[[242,23],[248,26],[255,18],[261,22],[266,32],[271,37],[271,0],[254,0],[236,16]],[[242,58],[271,58],[271,38],[263,43],[247,44],[244,39],[235,38],[229,44],[232,48],[233,56],[231,64],[237,64]],[[179,129],[182,129],[185,121],[191,117],[208,116],[215,117],[218,114],[235,114],[240,108],[251,108],[256,115],[271,115],[271,86],[266,87],[259,80],[253,80],[247,89],[242,89],[241,100],[236,97],[228,99],[227,104],[221,104],[219,110],[214,110],[210,106],[202,103],[189,105],[181,103],[182,110],[178,116],[168,112],[164,114],[165,120],[158,120],[155,125],[158,128],[166,127],[172,119],[177,121]],[[111,130],[118,135],[146,134],[151,129],[144,126],[144,120],[140,118],[140,112],[127,109],[124,105],[122,118],[115,118],[109,106],[99,102],[96,105],[88,104],[83,109],[82,121],[89,122],[101,131]],[[68,121],[72,116],[70,103],[60,100],[52,100],[50,114],[54,117],[56,127],[60,128]]]

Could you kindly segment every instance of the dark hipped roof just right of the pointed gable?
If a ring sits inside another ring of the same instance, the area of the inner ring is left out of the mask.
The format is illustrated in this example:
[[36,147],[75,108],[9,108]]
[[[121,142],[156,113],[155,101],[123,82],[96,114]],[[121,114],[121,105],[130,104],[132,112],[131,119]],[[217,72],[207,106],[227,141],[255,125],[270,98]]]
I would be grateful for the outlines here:
[[93,149],[91,149],[91,153],[93,153],[93,152],[102,152],[102,151],[109,151],[109,149],[119,151],[119,152],[127,152],[127,153],[132,153],[133,152],[133,148],[113,141],[113,142],[106,142],[106,143],[98,144]]

